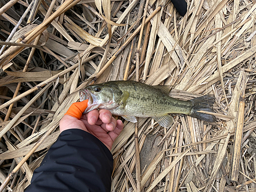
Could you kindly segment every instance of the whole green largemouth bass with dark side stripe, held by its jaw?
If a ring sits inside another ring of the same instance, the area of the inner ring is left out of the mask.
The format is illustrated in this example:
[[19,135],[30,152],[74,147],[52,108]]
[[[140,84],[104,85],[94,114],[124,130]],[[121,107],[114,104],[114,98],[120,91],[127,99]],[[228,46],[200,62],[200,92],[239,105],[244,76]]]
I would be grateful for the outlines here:
[[211,109],[215,98],[205,95],[191,100],[179,100],[169,96],[169,86],[151,86],[137,81],[108,81],[91,84],[79,90],[80,101],[88,99],[86,114],[94,109],[110,110],[113,115],[137,122],[136,117],[152,117],[161,126],[169,128],[174,119],[169,114],[184,114],[208,122],[216,117],[199,111]]

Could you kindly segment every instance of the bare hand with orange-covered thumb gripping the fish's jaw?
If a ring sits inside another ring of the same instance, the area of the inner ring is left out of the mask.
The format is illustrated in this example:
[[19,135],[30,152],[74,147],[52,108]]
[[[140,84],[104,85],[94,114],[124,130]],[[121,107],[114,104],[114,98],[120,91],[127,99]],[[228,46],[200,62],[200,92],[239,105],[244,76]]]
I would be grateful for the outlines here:
[[[78,109],[85,110],[87,102],[76,102]],[[106,147],[111,150],[114,140],[119,136],[123,129],[121,120],[115,120],[108,110],[93,110],[85,115],[79,110],[68,110],[67,114],[59,122],[60,132],[69,129],[80,129],[91,133],[97,137]],[[74,115],[72,113],[75,113]],[[75,117],[74,117],[75,116]],[[79,119],[80,116],[80,119]]]

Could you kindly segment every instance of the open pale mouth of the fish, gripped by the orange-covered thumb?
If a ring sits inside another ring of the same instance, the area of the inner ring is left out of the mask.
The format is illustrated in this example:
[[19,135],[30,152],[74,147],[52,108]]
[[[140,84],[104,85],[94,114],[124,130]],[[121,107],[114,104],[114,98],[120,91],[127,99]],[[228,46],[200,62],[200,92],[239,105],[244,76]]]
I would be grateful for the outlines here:
[[84,101],[88,99],[87,109],[83,112],[83,114],[86,114],[98,108],[99,106],[97,102],[98,99],[89,90],[79,90],[79,97],[80,97],[80,101]]

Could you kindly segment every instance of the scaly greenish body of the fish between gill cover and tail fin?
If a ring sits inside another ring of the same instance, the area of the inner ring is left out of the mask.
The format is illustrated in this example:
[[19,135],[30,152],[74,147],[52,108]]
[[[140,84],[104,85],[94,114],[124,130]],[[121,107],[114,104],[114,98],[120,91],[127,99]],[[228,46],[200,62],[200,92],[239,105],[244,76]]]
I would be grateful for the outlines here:
[[116,81],[115,83],[121,91],[127,91],[130,95],[124,108],[120,105],[110,110],[114,115],[152,117],[168,113],[188,115],[191,112],[191,102],[172,98],[154,86],[136,81]]

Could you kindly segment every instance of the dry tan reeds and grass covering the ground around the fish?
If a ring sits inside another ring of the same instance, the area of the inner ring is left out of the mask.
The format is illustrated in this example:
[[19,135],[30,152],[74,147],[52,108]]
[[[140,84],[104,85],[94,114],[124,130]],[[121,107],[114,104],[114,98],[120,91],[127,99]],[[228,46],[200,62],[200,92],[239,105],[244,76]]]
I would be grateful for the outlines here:
[[124,79],[214,94],[217,121],[125,121],[112,191],[255,190],[255,0],[188,1],[184,17],[165,0],[27,3],[0,1],[2,187],[29,185],[77,90]]

